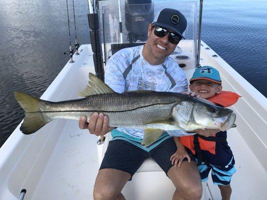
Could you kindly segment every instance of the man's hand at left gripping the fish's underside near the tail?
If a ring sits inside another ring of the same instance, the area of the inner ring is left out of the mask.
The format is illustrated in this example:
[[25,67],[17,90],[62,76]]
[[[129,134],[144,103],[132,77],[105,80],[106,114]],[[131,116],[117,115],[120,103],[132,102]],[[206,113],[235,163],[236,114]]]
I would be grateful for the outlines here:
[[114,129],[114,127],[108,126],[109,119],[103,113],[93,113],[90,117],[89,123],[86,122],[86,116],[82,116],[79,120],[79,127],[81,129],[88,129],[91,134],[97,136],[104,135],[107,132]]

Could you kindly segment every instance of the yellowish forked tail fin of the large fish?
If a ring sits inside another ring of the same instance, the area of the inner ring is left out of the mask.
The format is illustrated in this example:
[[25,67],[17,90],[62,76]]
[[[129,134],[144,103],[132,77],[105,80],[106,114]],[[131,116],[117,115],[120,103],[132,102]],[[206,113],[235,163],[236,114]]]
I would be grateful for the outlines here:
[[40,109],[40,105],[44,103],[44,100],[20,91],[15,91],[14,94],[17,101],[25,110],[25,118],[20,127],[20,130],[24,134],[32,134],[52,120],[46,117]]

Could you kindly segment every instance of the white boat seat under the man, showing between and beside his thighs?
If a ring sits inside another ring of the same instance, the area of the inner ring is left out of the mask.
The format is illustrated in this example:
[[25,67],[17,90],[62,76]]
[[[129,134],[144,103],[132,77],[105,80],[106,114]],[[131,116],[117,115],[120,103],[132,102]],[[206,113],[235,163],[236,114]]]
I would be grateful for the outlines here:
[[[108,134],[106,134],[106,139],[105,139],[103,151],[102,151],[102,159],[105,155],[105,152],[108,148],[109,141],[111,139],[112,139],[112,136],[109,132]],[[136,172],[143,172],[143,171],[163,171],[163,170],[156,163],[156,161],[150,157],[142,163],[142,165],[139,167],[139,169]]]

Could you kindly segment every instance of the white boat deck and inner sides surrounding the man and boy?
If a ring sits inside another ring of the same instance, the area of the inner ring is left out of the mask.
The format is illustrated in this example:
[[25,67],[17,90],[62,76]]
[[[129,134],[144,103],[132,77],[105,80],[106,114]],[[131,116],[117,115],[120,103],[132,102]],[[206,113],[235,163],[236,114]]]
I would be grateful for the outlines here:
[[[76,62],[64,67],[43,99],[59,101],[78,97],[78,92],[88,82],[88,72],[94,71],[90,45],[82,45],[81,49],[83,56],[74,56]],[[267,129],[267,106],[266,102],[253,105],[254,101],[266,98],[250,98],[248,90],[241,93],[243,88],[232,81],[235,74],[226,73],[225,66],[228,66],[223,65],[223,68],[221,58],[214,61],[209,53],[213,53],[212,50],[203,51],[201,64],[219,64],[224,89],[243,96],[231,107],[237,114],[237,127],[228,130],[228,142],[237,169],[231,181],[231,199],[266,199],[267,138],[264,131]],[[192,69],[186,70],[188,75],[191,72]],[[250,95],[256,92],[252,90]],[[258,110],[260,106],[262,108]],[[22,134],[19,126],[0,149],[0,199],[18,199],[23,188],[27,189],[25,200],[93,199],[93,185],[103,148],[103,144],[96,144],[97,136],[79,129],[75,120],[54,120],[31,135]],[[221,199],[211,179],[203,185],[202,199]],[[137,172],[122,192],[126,199],[142,200],[171,199],[173,191],[174,187],[163,171],[151,171]]]

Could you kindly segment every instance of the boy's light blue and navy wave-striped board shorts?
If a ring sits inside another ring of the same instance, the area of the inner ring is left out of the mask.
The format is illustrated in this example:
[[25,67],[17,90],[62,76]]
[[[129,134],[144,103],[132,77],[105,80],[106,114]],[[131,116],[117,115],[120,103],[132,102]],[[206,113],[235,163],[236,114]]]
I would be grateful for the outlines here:
[[[191,157],[192,160],[197,162],[196,157]],[[201,181],[208,180],[208,174],[211,169],[211,177],[214,184],[218,185],[228,185],[230,184],[232,174],[236,171],[234,167],[234,158],[232,156],[231,160],[226,166],[217,166],[210,163],[202,162],[200,165],[197,166]]]

